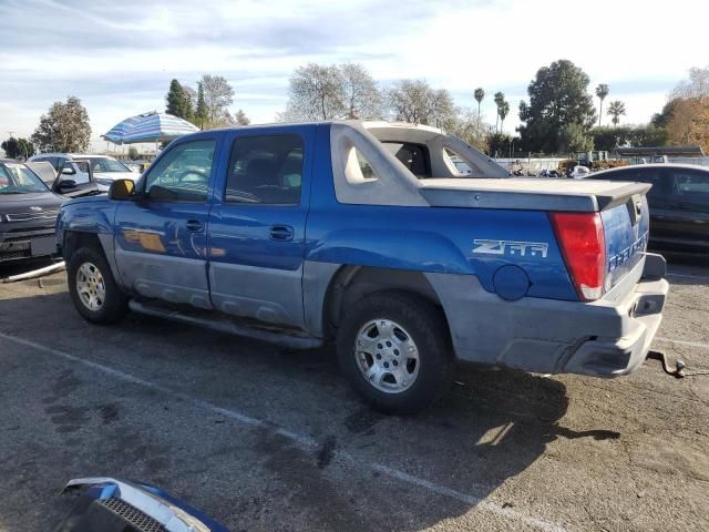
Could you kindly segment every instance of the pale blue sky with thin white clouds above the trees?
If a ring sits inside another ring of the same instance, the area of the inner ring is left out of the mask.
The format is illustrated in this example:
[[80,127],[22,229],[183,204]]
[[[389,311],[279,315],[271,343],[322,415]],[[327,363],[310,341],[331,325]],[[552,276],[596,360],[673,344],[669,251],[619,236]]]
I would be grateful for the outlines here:
[[[568,59],[624,123],[647,123],[691,66],[709,64],[702,0],[0,0],[0,140],[29,136],[49,106],[79,96],[92,149],[121,120],[163,111],[173,78],[225,76],[253,123],[273,122],[298,65],[362,63],[383,84],[424,79],[494,123],[536,71]],[[596,104],[598,103],[595,99]],[[604,123],[609,117],[604,115]]]

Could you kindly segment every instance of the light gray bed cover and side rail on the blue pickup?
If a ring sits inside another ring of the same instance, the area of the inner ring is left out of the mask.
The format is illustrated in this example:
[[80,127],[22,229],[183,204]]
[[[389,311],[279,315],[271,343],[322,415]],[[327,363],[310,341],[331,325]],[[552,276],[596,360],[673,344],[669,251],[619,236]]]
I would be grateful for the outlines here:
[[420,192],[434,207],[599,212],[620,205],[650,185],[596,180],[430,178]]

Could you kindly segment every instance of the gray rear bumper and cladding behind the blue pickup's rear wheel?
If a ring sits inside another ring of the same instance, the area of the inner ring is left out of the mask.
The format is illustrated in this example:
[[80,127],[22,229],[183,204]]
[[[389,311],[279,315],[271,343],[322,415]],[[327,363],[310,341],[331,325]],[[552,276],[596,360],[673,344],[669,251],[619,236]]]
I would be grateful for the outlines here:
[[443,304],[460,360],[595,377],[627,375],[643,364],[669,290],[665,259],[654,254],[589,304],[503,301],[470,276],[427,277]]

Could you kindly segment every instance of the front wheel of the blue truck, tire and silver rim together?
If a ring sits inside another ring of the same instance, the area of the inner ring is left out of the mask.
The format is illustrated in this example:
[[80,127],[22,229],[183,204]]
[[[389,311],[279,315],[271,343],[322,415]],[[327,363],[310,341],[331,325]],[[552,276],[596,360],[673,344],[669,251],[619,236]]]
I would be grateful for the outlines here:
[[127,297],[113,278],[102,252],[82,247],[66,266],[69,293],[74,307],[94,324],[113,324],[127,313]]

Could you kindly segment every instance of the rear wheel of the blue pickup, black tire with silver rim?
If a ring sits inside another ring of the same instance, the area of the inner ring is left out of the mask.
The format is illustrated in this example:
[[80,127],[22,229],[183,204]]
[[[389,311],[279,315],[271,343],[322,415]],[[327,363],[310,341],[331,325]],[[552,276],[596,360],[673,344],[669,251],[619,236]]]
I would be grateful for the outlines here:
[[338,330],[340,367],[373,408],[412,413],[439,399],[452,380],[453,357],[441,311],[401,291],[354,303]]

